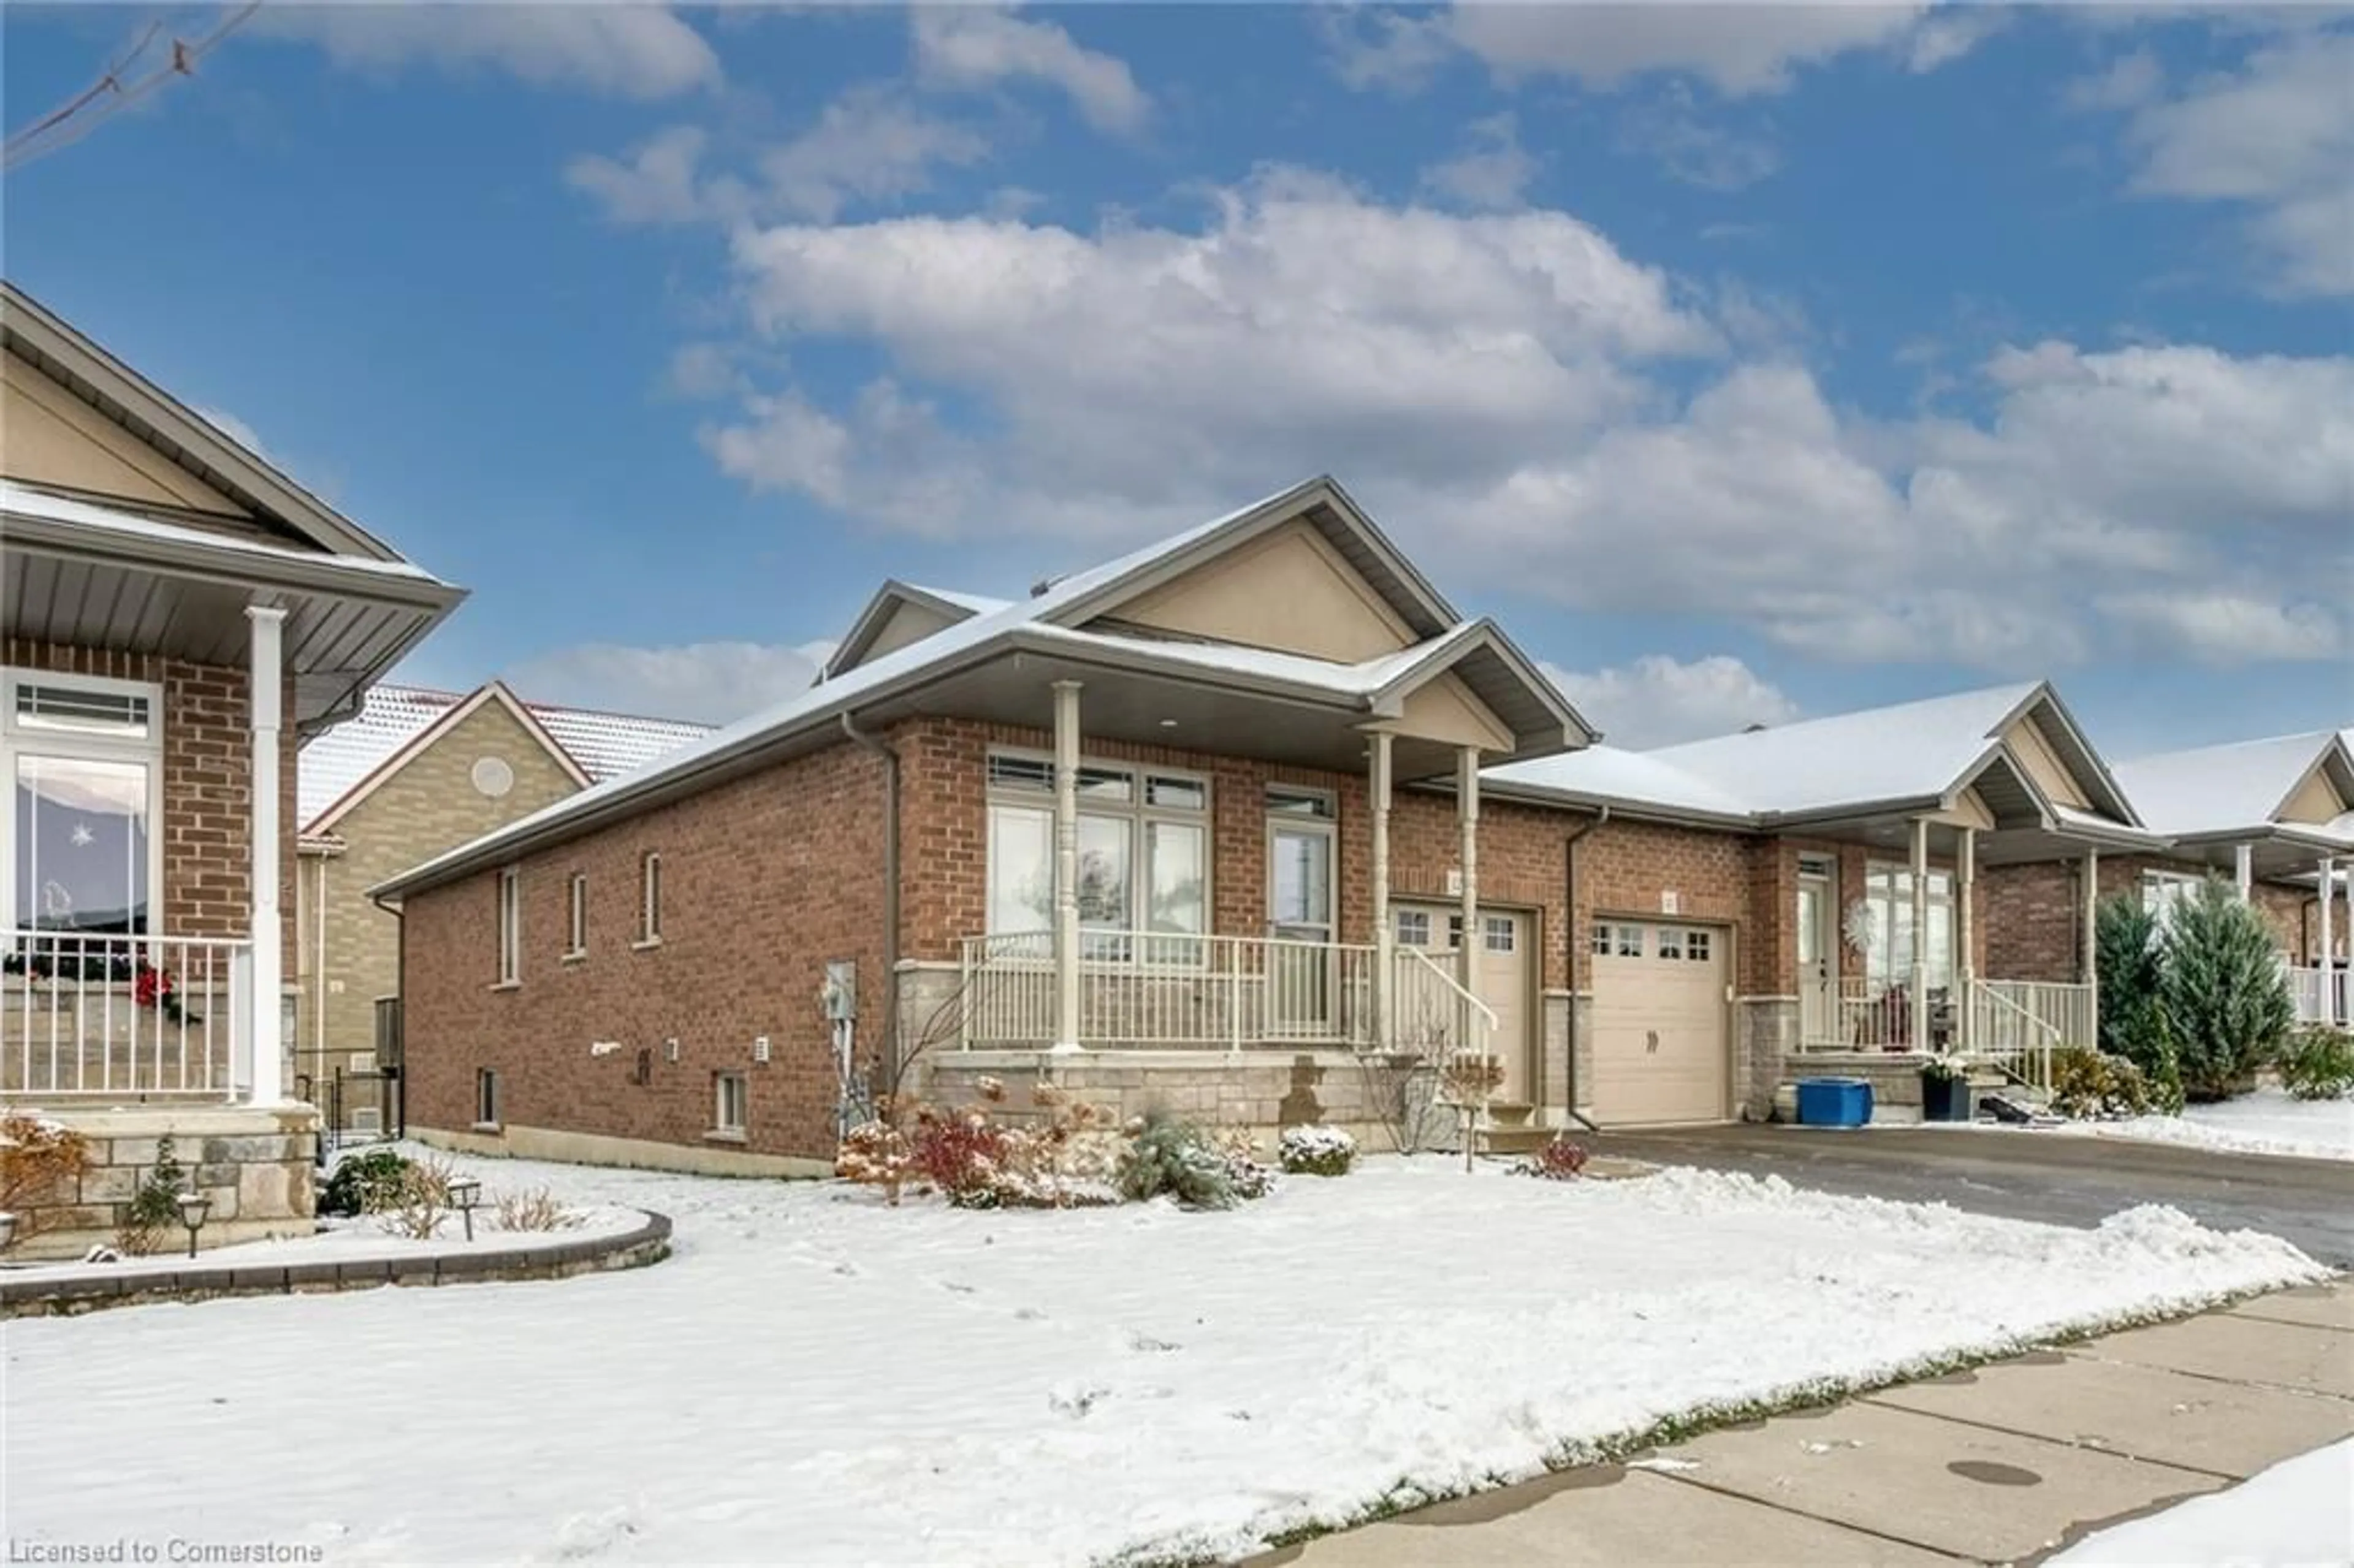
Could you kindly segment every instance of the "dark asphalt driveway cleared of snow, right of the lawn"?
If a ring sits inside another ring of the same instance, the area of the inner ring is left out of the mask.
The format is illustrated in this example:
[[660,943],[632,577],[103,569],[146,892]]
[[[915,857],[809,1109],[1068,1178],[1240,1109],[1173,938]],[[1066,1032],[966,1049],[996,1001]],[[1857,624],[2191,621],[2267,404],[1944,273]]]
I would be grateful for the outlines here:
[[2354,1269],[2354,1163],[2215,1154],[2010,1128],[1671,1128],[1580,1135],[1594,1154],[1780,1175],[1796,1187],[1944,1201],[2013,1220],[2093,1227],[2135,1203],[2286,1236]]

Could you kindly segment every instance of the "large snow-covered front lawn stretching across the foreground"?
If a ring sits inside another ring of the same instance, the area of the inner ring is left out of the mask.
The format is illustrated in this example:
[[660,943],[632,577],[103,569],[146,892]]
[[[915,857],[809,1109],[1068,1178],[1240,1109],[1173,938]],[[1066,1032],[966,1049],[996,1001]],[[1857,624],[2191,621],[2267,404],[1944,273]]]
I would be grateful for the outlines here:
[[1370,1161],[1224,1215],[478,1170],[664,1210],[676,1257],[9,1323],[9,1535],[403,1563],[1238,1554],[1704,1406],[2323,1276],[2159,1208],[2074,1231],[1683,1170]]

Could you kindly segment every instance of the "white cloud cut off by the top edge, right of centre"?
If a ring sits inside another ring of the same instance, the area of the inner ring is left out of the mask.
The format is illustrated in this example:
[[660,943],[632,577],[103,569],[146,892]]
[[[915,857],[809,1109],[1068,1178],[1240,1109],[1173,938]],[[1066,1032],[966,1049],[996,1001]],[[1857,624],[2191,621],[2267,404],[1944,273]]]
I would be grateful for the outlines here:
[[1354,87],[1415,89],[1469,52],[1504,82],[1558,75],[1617,87],[1671,73],[1744,97],[1782,92],[1798,68],[1857,49],[1933,71],[1994,26],[1928,5],[1457,5],[1436,16],[1344,14],[1328,21],[1328,42]]

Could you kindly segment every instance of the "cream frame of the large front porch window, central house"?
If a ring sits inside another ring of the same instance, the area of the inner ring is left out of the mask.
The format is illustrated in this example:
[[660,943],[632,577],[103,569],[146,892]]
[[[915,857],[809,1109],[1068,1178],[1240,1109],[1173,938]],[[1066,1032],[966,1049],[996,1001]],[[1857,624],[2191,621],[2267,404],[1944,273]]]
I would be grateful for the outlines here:
[[[998,763],[1015,763],[1026,777],[1024,779],[1000,779]],[[1193,768],[1165,768],[1161,763],[1130,763],[1102,756],[1078,758],[1080,784],[1090,777],[1104,782],[1109,775],[1121,775],[1128,779],[1125,798],[1090,796],[1085,789],[1078,793],[1078,815],[1097,817],[1104,822],[1121,822],[1128,826],[1128,925],[1118,928],[1125,932],[1137,932],[1151,937],[1146,942],[1125,944],[1128,951],[1109,954],[1102,944],[1095,951],[1088,949],[1088,930],[1111,930],[1102,925],[1080,923],[1080,951],[1088,963],[1132,963],[1139,968],[1156,970],[1198,970],[1210,963],[1210,937],[1217,921],[1217,793],[1208,772]],[[1153,782],[1184,784],[1201,791],[1201,805],[1161,805],[1153,803]],[[993,812],[998,808],[1012,810],[1043,810],[1052,824],[1055,812],[1055,753],[1038,751],[1031,746],[991,746],[982,763],[982,812],[984,812],[984,843],[982,843],[982,925],[986,937],[1026,937],[1040,935],[1031,930],[986,930],[989,906],[991,906],[991,883],[993,857],[989,855],[989,838],[993,838]],[[1201,930],[1184,932],[1156,932],[1151,928],[1151,824],[1189,826],[1201,831]],[[1048,855],[1052,857],[1052,836],[1048,838]],[[1052,918],[1048,921],[1052,930]],[[1040,954],[1045,956],[1045,954]]]

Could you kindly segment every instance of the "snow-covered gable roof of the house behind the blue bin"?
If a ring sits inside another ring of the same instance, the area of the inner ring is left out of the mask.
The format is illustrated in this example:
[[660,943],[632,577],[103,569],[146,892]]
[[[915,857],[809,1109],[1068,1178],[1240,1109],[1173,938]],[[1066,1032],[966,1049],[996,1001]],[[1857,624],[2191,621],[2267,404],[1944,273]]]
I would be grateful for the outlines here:
[[[2048,683],[1991,685],[1829,718],[1808,718],[1714,739],[1617,751],[1594,746],[1532,763],[1490,768],[1483,777],[1532,793],[1671,817],[1784,826],[1874,810],[1930,810],[2006,760],[2001,737],[2034,718],[2100,812],[2069,812],[2076,826],[2137,826],[2133,805],[2060,706]],[[2034,803],[2057,819],[2050,800],[2010,765]]]

